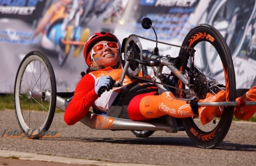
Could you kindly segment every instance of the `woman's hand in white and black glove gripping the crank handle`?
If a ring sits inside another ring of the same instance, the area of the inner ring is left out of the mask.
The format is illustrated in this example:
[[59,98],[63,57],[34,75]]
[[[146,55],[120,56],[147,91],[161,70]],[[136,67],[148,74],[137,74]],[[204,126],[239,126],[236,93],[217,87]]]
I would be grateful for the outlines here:
[[94,87],[95,93],[100,97],[103,92],[111,90],[114,84],[115,80],[111,76],[100,77]]

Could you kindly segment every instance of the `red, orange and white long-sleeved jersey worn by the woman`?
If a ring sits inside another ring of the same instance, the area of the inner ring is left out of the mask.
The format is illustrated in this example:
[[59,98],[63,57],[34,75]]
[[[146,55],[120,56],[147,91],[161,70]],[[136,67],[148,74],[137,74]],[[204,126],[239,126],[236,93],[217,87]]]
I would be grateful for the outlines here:
[[[102,76],[111,76],[117,82],[120,80],[122,69],[113,69],[112,67],[90,72],[81,78],[77,84],[72,100],[69,102],[64,120],[66,124],[72,125],[81,120],[89,111],[90,107],[107,112],[120,91],[127,88],[136,79],[130,80],[127,76],[123,80],[123,86],[105,91],[100,97],[95,93],[95,85]],[[140,73],[139,76],[142,76]],[[151,77],[148,76],[148,79]]]

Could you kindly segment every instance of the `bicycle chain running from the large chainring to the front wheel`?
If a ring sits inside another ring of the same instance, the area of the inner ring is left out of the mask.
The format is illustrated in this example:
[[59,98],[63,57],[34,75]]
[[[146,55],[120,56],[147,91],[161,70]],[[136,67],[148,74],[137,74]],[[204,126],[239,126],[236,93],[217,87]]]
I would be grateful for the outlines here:
[[[131,34],[129,37],[131,36],[135,36],[135,37],[138,37],[138,38],[141,38],[141,39],[144,39],[144,40],[148,40],[148,41],[152,41],[152,42],[158,42],[158,43],[161,43],[161,44],[166,44],[168,46],[174,46],[174,47],[180,47],[182,49],[190,49],[191,47],[186,47],[186,46],[179,46],[179,45],[175,45],[175,44],[169,44],[169,43],[166,43],[166,42],[161,42],[161,41],[156,41],[156,40],[153,40],[153,39],[149,39],[149,38],[146,38],[146,37],[143,37],[143,36],[139,36],[139,35],[136,35],[136,34]],[[153,69],[154,70],[154,69]],[[149,80],[147,78],[144,78],[144,77],[139,77],[139,76],[134,76],[134,78],[137,78],[139,80],[143,80],[143,81],[147,81],[147,82],[150,82],[150,83],[157,83],[157,84],[160,84],[160,85],[163,85],[163,86],[167,86],[169,88],[173,88],[175,90],[181,90],[181,91],[184,91],[184,92],[188,92],[189,90],[184,90],[184,89],[181,89],[181,88],[177,88],[176,86],[172,86],[172,85],[167,85],[165,83],[161,83],[161,82],[156,82],[156,81],[152,81],[152,80]]]

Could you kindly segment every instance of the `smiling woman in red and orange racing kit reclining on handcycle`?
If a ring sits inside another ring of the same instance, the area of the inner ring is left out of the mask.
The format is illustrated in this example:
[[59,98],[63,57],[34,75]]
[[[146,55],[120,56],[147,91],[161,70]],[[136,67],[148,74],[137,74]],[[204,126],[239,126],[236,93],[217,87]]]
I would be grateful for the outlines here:
[[[125,77],[122,87],[113,87],[115,80],[119,80],[122,73],[120,47],[117,37],[108,32],[95,33],[87,40],[84,58],[89,68],[77,84],[74,97],[66,108],[66,124],[73,125],[81,120],[90,107],[110,116],[142,121],[164,115],[176,118],[199,116],[203,125],[212,121],[214,116],[222,115],[220,107],[201,106],[192,109],[186,101],[176,99],[172,92],[158,94],[155,86],[136,79]],[[102,88],[107,91],[102,92]],[[253,87],[236,100],[255,101],[255,98],[256,87]],[[220,91],[214,96],[208,94],[207,98],[199,101],[224,100],[225,91]],[[237,106],[235,116],[238,119],[249,119],[256,110],[251,107],[253,106]]]

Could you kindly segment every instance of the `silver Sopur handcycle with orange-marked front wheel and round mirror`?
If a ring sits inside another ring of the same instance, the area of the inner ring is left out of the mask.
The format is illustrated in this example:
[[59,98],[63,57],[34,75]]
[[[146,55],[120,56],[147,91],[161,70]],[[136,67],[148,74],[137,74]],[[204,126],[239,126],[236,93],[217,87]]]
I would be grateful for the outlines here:
[[[145,29],[153,28],[149,18],[143,19],[141,23]],[[156,47],[154,50],[143,50],[139,38],[156,42]],[[179,55],[159,55],[158,43],[180,47]],[[202,58],[207,58],[199,51],[202,46],[206,48],[208,58],[215,57],[214,62],[202,63]],[[123,72],[115,86],[122,86],[127,75],[155,85],[159,94],[172,91],[177,98],[186,101],[203,99],[207,93],[225,91],[226,98],[223,102],[197,103],[197,106],[218,106],[222,110],[221,114],[216,114],[210,123],[202,125],[197,117],[178,119],[164,116],[162,119],[140,122],[89,111],[80,122],[91,129],[131,130],[136,137],[144,138],[157,130],[176,133],[182,130],[179,125],[181,123],[189,138],[201,148],[213,148],[222,142],[230,129],[234,106],[239,103],[235,101],[233,61],[228,46],[217,29],[209,24],[199,24],[189,31],[181,46],[131,34],[123,40],[121,52]],[[148,67],[154,71],[152,79],[139,77],[140,72],[144,76],[148,75]],[[167,67],[169,72],[163,73],[163,67]],[[174,83],[169,83],[170,77]],[[15,78],[14,104],[18,124],[29,138],[41,138],[42,132],[47,131],[51,125],[56,107],[65,111],[72,96],[72,92],[57,92],[53,67],[41,52],[31,51],[21,61]],[[28,104],[30,109],[26,110],[25,105]],[[164,123],[163,119],[167,119],[168,123]]]

